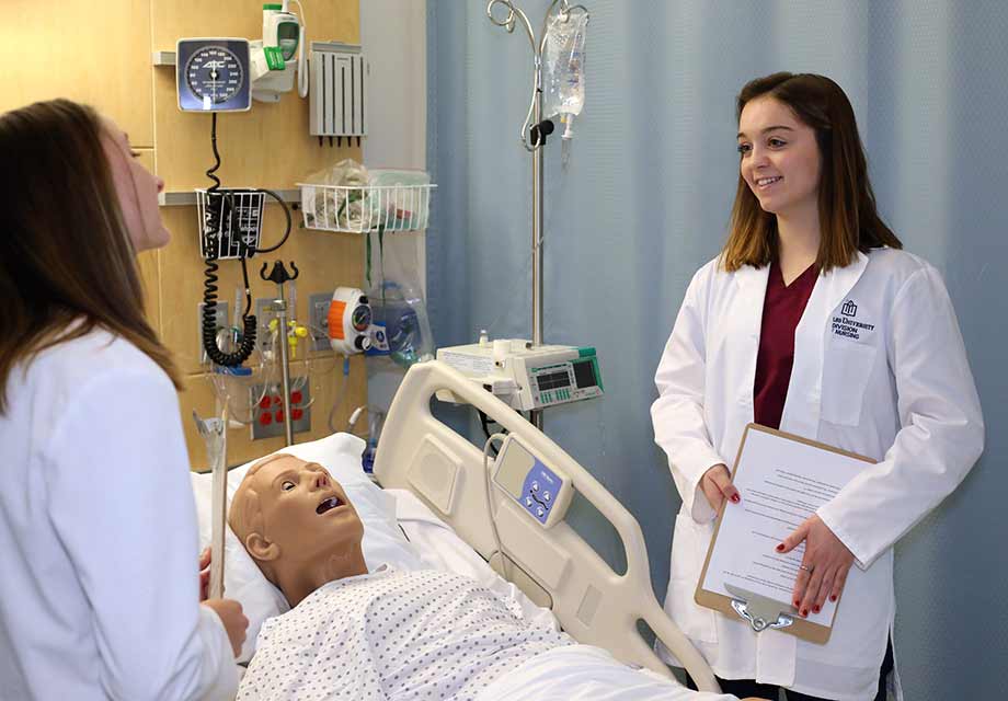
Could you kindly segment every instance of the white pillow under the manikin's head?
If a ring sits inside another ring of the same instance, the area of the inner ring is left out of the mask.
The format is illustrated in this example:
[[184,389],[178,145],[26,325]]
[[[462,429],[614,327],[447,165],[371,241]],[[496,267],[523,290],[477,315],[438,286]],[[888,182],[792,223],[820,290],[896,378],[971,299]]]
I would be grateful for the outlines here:
[[[386,494],[364,473],[360,453],[365,444],[351,434],[333,434],[319,440],[302,443],[275,452],[290,453],[301,460],[318,462],[343,485],[346,496],[364,522],[364,559],[375,570],[382,563],[400,570],[421,570],[423,563],[419,553],[403,537],[396,520],[396,499]],[[273,453],[267,453],[273,455]],[[265,456],[263,456],[265,457]],[[251,462],[228,472],[228,506],[238,491]],[[210,543],[213,515],[213,476],[209,473],[192,473],[193,495],[196,498],[196,516],[199,519],[199,549]],[[259,566],[245,552],[244,547],[230,528],[225,533],[225,597],[241,602],[249,619],[245,643],[239,662],[248,662],[255,652],[255,639],[263,622],[288,610],[287,600],[273,586]]]

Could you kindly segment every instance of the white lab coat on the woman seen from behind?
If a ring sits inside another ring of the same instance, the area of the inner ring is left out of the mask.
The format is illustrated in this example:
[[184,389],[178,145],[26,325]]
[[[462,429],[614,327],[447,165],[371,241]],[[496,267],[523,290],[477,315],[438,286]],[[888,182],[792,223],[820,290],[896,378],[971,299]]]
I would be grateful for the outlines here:
[[197,604],[179,400],[95,330],[8,378],[0,415],[0,699],[226,699],[238,671]]

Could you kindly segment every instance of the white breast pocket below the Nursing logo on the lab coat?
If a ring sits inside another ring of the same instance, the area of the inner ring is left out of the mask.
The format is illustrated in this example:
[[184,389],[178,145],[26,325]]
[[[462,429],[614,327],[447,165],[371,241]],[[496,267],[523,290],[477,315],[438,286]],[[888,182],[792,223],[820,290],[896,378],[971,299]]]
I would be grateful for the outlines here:
[[858,425],[877,353],[874,346],[831,338],[823,364],[823,421]]

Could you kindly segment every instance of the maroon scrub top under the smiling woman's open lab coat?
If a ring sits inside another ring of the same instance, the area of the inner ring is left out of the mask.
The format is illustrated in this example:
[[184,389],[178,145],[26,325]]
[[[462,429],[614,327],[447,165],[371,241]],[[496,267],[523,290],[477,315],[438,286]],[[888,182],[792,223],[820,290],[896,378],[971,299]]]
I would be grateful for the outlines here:
[[784,285],[780,265],[777,261],[770,264],[753,384],[753,418],[763,426],[780,428],[791,366],[794,365],[794,329],[817,278],[818,268],[813,264],[790,285]]

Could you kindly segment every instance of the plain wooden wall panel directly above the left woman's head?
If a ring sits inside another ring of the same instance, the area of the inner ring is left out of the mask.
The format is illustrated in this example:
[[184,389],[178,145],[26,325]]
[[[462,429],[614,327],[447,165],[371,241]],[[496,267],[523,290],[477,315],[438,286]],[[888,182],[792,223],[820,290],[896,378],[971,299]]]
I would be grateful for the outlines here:
[[150,11],[150,0],[3,0],[0,112],[69,97],[153,146]]

